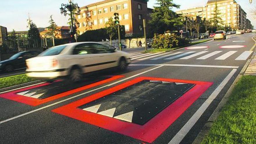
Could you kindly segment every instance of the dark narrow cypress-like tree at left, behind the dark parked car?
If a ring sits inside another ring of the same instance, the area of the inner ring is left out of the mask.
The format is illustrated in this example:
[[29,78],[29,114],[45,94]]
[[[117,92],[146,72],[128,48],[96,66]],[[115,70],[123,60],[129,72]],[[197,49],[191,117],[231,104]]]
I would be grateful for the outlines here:
[[38,41],[40,41],[40,35],[37,29],[37,26],[33,22],[31,22],[28,35],[29,35],[30,43],[33,45],[33,47],[38,47]]

